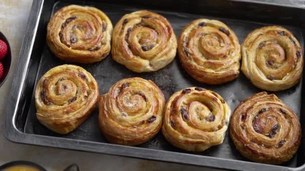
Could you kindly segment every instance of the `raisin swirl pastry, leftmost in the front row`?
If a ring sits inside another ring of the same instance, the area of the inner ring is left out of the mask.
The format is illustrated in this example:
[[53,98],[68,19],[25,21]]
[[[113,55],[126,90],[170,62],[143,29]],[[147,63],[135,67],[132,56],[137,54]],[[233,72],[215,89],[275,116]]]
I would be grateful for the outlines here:
[[66,134],[93,111],[98,85],[84,68],[64,64],[46,72],[35,89],[38,120],[54,132]]

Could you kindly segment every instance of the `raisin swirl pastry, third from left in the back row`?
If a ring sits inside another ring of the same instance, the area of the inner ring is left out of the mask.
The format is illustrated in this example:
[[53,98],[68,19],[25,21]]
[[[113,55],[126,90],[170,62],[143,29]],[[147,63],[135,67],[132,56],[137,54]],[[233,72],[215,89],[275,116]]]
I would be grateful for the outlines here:
[[196,19],[189,23],[180,34],[178,54],[185,70],[200,82],[220,84],[239,75],[238,38],[218,20]]

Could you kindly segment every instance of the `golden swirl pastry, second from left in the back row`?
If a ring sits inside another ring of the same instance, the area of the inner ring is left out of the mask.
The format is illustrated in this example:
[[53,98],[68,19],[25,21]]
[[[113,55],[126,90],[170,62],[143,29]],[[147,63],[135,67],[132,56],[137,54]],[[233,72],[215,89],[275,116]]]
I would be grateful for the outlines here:
[[171,24],[155,12],[139,10],[126,14],[113,30],[113,59],[135,72],[165,67],[174,59],[176,49]]

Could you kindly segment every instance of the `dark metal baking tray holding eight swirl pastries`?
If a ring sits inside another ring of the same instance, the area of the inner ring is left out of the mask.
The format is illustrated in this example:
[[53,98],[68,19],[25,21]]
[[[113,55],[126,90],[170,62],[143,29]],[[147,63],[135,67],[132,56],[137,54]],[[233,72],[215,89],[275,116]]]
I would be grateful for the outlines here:
[[[281,165],[261,164],[247,160],[235,148],[226,133],[224,142],[203,152],[188,152],[169,144],[161,132],[149,141],[137,146],[108,143],[98,123],[97,109],[75,131],[56,134],[36,118],[34,88],[40,77],[50,68],[64,64],[55,57],[46,45],[46,26],[54,11],[68,4],[92,5],[103,10],[113,25],[126,13],[148,9],[161,13],[171,22],[179,36],[182,28],[197,18],[219,19],[237,34],[239,41],[253,29],[263,25],[280,24],[289,29],[304,45],[305,9],[287,4],[283,0],[34,0],[27,31],[22,44],[17,71],[5,113],[5,136],[14,142],[60,147],[74,150],[125,155],[146,159],[171,161],[237,170],[303,170],[305,169],[305,139],[302,138],[297,154]],[[281,3],[279,3],[281,2]],[[158,10],[156,10],[158,9]],[[75,63],[73,63],[75,64]],[[135,73],[111,58],[111,53],[102,61],[93,64],[78,64],[96,78],[100,93],[106,93],[116,81],[140,76],[153,80],[164,92],[166,99],[179,89],[202,86],[214,90],[225,98],[232,110],[246,97],[260,92],[242,73],[236,80],[221,85],[207,85],[191,78],[181,67],[178,56],[163,69],[148,73]],[[304,79],[302,79],[304,80]],[[275,92],[299,116],[304,123],[304,91],[302,81],[284,91]],[[302,132],[305,125],[301,124]]]

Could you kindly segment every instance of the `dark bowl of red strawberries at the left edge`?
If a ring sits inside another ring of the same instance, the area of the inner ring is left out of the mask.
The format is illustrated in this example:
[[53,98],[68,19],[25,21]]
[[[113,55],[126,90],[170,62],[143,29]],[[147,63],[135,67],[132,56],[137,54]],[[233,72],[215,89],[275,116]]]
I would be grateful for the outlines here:
[[0,32],[0,87],[6,81],[12,64],[12,51],[8,39]]

